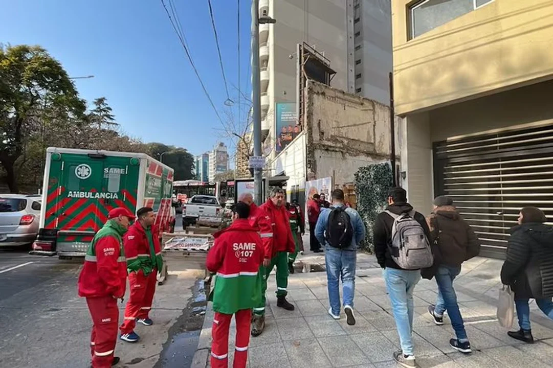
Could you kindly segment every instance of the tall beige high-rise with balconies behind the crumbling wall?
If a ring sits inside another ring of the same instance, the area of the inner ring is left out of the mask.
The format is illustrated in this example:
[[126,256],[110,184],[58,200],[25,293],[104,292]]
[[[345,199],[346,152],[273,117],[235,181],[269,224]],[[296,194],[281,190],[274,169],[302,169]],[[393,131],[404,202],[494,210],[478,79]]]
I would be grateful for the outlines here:
[[389,103],[389,0],[260,0],[259,13],[276,19],[259,25],[263,154],[270,165],[279,154],[276,106],[296,102],[299,43],[330,62],[336,71],[332,87]]

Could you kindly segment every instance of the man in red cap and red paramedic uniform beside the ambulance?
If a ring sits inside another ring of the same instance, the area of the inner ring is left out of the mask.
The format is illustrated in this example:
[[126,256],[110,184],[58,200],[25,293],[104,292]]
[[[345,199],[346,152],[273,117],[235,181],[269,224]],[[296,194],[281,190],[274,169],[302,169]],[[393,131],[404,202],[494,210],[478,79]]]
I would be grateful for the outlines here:
[[119,362],[113,356],[117,342],[119,309],[117,299],[125,295],[127,261],[122,237],[134,215],[125,208],[114,208],[108,221],[96,233],[79,275],[79,296],[86,298],[92,317],[90,350],[93,368],[107,368]]

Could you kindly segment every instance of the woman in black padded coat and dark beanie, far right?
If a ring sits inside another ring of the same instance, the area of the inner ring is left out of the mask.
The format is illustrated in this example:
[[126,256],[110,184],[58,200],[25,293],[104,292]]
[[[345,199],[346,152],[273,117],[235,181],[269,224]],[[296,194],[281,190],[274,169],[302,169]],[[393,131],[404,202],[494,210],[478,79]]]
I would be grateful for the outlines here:
[[520,330],[509,336],[534,343],[530,328],[529,299],[547,317],[553,319],[553,227],[545,225],[545,214],[539,208],[520,210],[519,225],[512,228],[507,244],[507,260],[501,269],[501,281],[515,293]]

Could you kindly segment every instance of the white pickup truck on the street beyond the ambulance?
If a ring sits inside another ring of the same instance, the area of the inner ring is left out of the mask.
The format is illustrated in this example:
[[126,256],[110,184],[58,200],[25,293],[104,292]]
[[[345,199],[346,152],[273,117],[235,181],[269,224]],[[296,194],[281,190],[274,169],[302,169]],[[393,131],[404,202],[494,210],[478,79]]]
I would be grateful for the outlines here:
[[182,228],[199,223],[218,227],[222,222],[223,208],[215,196],[194,196],[182,205]]

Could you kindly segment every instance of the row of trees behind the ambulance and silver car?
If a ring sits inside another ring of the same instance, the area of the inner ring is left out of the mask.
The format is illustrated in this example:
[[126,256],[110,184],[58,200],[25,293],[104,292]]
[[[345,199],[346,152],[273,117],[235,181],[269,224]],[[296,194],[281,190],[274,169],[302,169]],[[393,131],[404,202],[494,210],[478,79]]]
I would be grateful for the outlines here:
[[0,45],[0,187],[12,193],[41,186],[49,146],[141,152],[192,178],[194,157],[184,148],[143,144],[118,131],[105,97],[90,111],[58,60],[40,46]]

